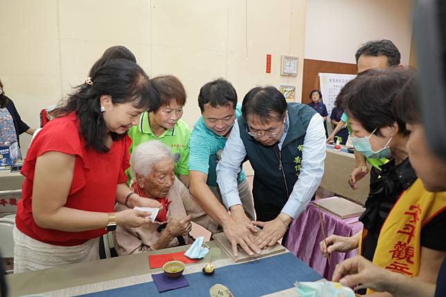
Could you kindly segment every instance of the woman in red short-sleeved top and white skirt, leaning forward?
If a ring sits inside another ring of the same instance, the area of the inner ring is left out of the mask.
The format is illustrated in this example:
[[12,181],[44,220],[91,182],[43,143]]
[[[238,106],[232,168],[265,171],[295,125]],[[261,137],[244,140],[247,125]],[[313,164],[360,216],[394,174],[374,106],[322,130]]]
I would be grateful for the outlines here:
[[[127,130],[157,95],[136,63],[114,60],[80,85],[37,134],[21,170],[15,272],[98,259],[98,237],[117,225],[139,227],[159,207],[126,185]],[[116,202],[130,209],[114,213]]]

